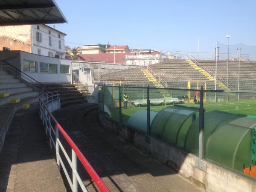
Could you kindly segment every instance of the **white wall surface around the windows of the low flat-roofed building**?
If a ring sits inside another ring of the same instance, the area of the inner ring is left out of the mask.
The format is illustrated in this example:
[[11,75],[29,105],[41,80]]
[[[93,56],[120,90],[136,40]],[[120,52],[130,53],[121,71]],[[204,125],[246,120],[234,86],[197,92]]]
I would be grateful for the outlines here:
[[[12,58],[12,59],[9,59]],[[33,79],[41,83],[70,83],[71,82],[71,61],[67,59],[52,58],[47,56],[35,55],[23,51],[0,51],[0,59],[7,60],[10,64],[17,67],[19,70],[23,71],[27,75],[31,76]],[[37,71],[29,72],[23,70],[23,60],[36,61]],[[42,73],[40,72],[40,62],[57,64],[57,73]],[[60,65],[68,65],[69,73],[61,74]],[[25,81],[26,78],[22,77]],[[32,80],[32,79],[31,79]]]

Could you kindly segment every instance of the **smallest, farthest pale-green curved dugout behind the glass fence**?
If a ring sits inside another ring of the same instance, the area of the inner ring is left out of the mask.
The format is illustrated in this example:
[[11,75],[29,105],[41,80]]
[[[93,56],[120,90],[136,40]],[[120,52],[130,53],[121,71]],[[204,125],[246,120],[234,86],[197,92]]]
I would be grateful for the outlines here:
[[[152,123],[154,117],[157,115],[157,111],[150,111],[150,124]],[[127,125],[131,128],[134,128],[137,131],[141,131],[147,134],[147,110],[142,109],[140,111],[136,111],[127,122]]]

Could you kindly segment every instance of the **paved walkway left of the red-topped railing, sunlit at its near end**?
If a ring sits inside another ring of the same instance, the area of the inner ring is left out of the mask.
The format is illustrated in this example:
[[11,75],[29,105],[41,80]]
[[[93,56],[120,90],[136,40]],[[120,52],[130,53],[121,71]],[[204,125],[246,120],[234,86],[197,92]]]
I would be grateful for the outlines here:
[[0,153],[0,192],[64,192],[38,105],[19,110]]

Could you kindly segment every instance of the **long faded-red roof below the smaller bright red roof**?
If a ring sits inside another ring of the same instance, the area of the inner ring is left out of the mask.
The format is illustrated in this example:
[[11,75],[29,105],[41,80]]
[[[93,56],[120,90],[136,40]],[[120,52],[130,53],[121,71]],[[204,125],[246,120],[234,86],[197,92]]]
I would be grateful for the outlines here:
[[[125,55],[135,55],[135,53],[116,53],[115,63],[125,63]],[[80,54],[80,57],[84,59],[84,61],[114,63],[114,53]]]

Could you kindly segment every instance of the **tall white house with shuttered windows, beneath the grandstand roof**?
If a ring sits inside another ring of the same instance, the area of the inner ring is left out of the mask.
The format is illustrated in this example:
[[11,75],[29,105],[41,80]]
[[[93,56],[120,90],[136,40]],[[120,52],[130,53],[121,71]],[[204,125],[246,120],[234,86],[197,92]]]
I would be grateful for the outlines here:
[[0,48],[65,58],[65,36],[45,24],[0,26]]

